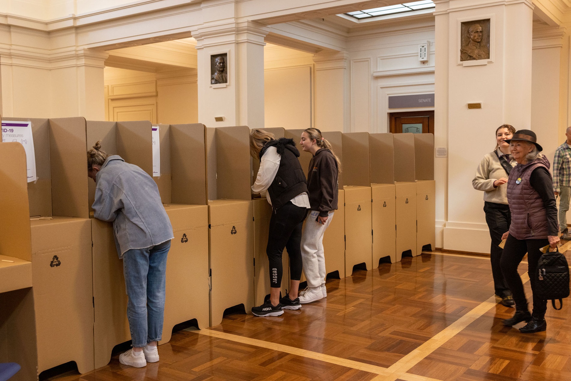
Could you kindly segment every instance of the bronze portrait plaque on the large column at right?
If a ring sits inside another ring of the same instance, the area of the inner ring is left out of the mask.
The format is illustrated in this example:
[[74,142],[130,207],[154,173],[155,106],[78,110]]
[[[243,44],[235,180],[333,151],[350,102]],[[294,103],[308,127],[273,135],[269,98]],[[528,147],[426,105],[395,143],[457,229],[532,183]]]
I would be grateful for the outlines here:
[[490,58],[490,19],[461,23],[460,61]]

